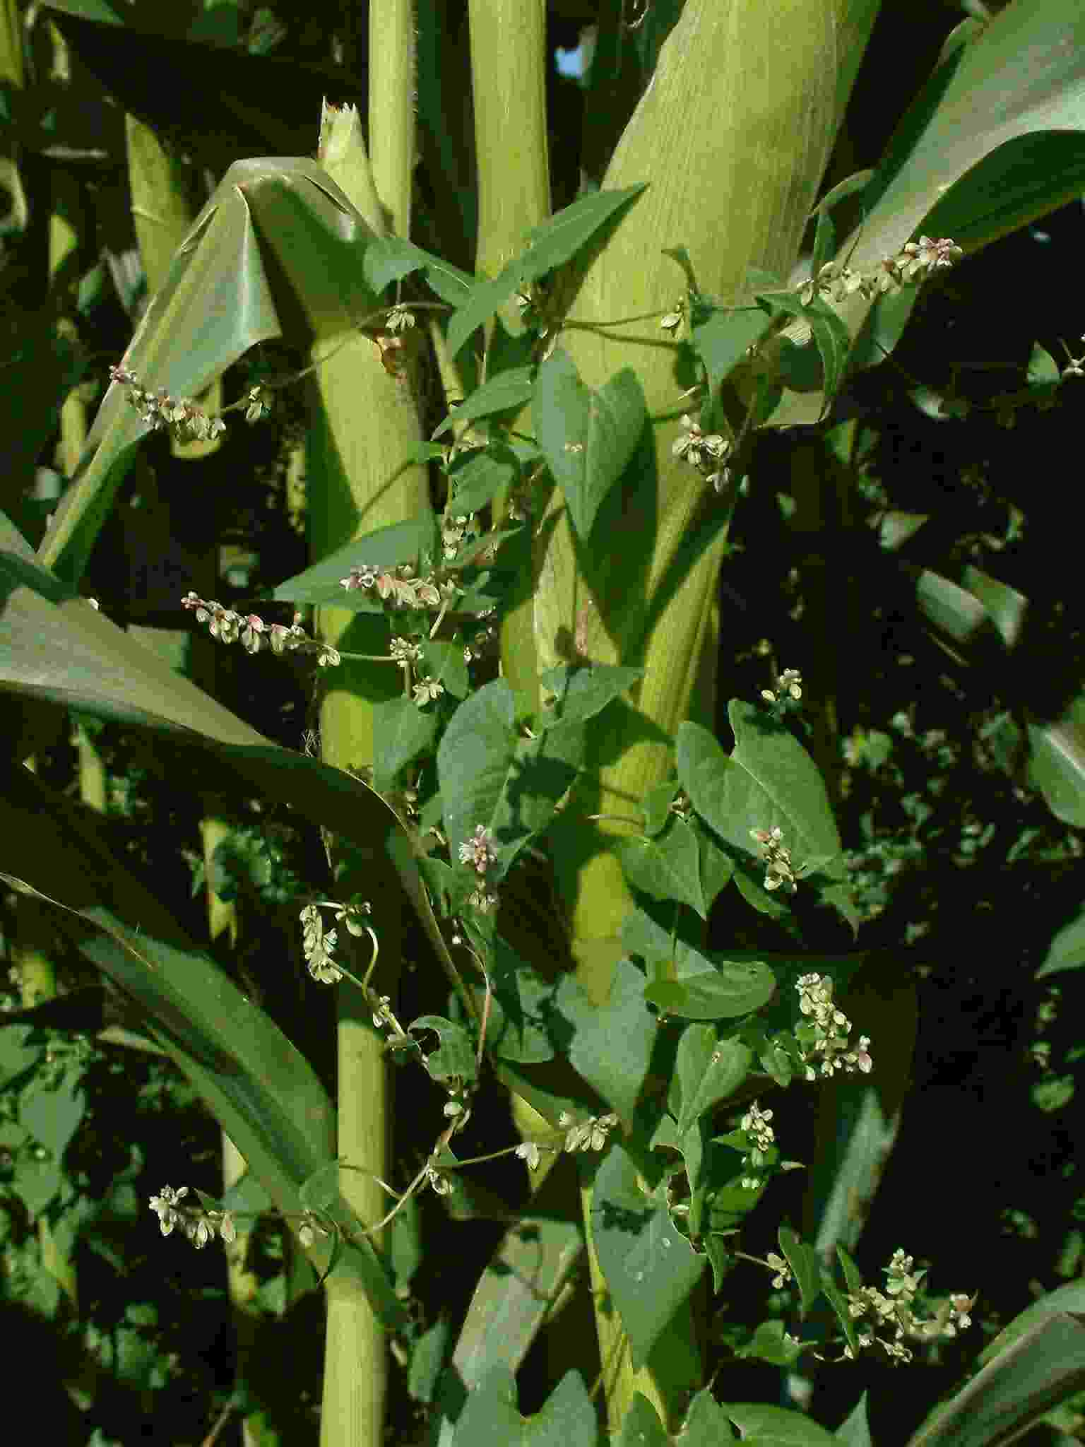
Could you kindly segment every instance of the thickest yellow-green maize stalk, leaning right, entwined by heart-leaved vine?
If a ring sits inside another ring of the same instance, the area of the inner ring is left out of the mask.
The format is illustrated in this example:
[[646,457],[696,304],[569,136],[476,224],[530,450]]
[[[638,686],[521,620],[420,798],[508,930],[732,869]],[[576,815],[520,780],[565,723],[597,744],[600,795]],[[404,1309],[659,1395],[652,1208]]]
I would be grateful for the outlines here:
[[[577,318],[670,310],[684,287],[677,265],[661,255],[664,246],[684,245],[699,285],[725,300],[741,294],[748,266],[787,273],[836,124],[833,23],[826,0],[771,7],[760,0],[687,0],[603,181],[608,190],[644,181],[650,187],[589,265],[571,308]],[[606,336],[574,330],[561,339],[589,386],[603,385],[622,366],[635,368],[650,414],[673,410],[690,385],[676,376],[674,350],[660,340],[665,334],[645,323]],[[600,528],[600,543],[577,553],[561,517],[540,559],[540,667],[561,661],[573,638],[596,663],[645,670],[632,706],[606,715],[597,731],[590,761],[597,783],[576,792],[553,842],[577,972],[596,1000],[609,993],[622,920],[632,907],[610,844],[632,826],[580,820],[584,813],[628,815],[668,773],[678,724],[689,716],[713,722],[725,531],[692,567],[681,566],[670,596],[658,593],[690,531],[723,505],[694,467],[671,454],[680,434],[677,421],[657,425],[654,488],[641,485],[628,499],[621,532]],[[602,538],[613,544],[609,559],[600,556]],[[655,1385],[673,1418],[681,1383]],[[626,1359],[608,1383],[613,1428],[637,1389]]]

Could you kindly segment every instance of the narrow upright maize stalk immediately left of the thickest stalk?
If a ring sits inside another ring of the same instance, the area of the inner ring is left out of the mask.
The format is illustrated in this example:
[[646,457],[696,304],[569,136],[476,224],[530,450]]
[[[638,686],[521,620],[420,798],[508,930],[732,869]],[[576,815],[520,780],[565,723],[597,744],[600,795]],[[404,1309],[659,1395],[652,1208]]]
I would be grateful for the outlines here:
[[[524,236],[550,217],[547,145],[547,12],[544,0],[470,0],[479,246],[475,269],[498,272],[524,249]],[[518,327],[505,311],[503,320]],[[518,418],[518,428],[529,423]],[[508,509],[495,501],[495,522]],[[537,713],[538,666],[529,590],[505,612],[501,669],[516,713]]]

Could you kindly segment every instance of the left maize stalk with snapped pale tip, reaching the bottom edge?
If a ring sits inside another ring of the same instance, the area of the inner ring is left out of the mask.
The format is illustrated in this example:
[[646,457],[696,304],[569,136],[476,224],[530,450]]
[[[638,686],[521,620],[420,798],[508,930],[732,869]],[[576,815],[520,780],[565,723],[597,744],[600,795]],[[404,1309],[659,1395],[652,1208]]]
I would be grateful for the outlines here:
[[[380,84],[376,75],[383,58],[398,43],[389,33],[389,14],[402,26],[408,13],[398,3],[388,9],[378,3],[370,7],[370,25],[378,25],[382,36],[379,49],[370,54],[375,87]],[[399,41],[409,43],[407,36],[399,36]],[[395,117],[398,123],[412,127],[409,107],[401,107]],[[407,158],[412,153],[411,146],[396,145],[395,135],[386,136],[385,146],[386,155]],[[326,113],[320,161],[373,230],[383,234],[386,226],[380,201],[402,195],[404,185],[409,192],[409,172],[405,181],[399,178],[395,185],[386,178],[378,200],[356,111]],[[379,349],[367,337],[347,331],[341,347],[336,339],[320,344],[320,355],[334,355],[312,376],[315,405],[307,492],[314,559],[341,547],[352,537],[417,517],[430,505],[425,470],[404,467],[407,449],[421,438],[409,382],[389,376]],[[379,619],[375,627],[372,615],[356,615],[343,608],[320,609],[321,638],[343,651],[383,653],[385,648],[378,647],[382,628]],[[398,692],[396,674],[398,670],[382,669],[380,664],[343,663],[324,679],[320,738],[326,763],[347,770],[372,767],[373,703]],[[401,894],[379,845],[362,877],[344,877],[337,880],[336,887],[343,896],[360,888],[373,900],[380,938],[373,985],[382,994],[395,996],[399,920],[395,904],[389,907],[389,903],[399,900]],[[359,991],[340,984],[337,1001],[337,1152],[349,1165],[363,1168],[343,1171],[340,1189],[362,1220],[376,1221],[386,1214],[389,1202],[373,1176],[363,1172],[386,1176],[388,1064],[372,1026],[372,1011]],[[360,1283],[330,1281],[326,1291],[321,1447],[378,1447],[383,1433],[388,1370],[383,1331]]]

